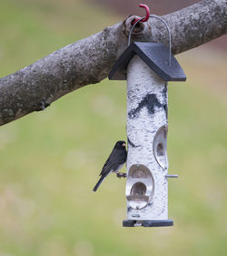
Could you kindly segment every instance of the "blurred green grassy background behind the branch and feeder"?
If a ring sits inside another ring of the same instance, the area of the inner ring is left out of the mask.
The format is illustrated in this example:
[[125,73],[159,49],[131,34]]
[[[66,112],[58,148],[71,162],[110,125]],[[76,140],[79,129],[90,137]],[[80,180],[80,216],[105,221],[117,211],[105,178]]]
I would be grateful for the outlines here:
[[[122,16],[82,0],[0,0],[0,76],[90,36]],[[227,254],[226,52],[178,56],[170,83],[171,228],[123,228],[125,180],[92,193],[126,138],[125,82],[81,88],[0,128],[0,256]]]

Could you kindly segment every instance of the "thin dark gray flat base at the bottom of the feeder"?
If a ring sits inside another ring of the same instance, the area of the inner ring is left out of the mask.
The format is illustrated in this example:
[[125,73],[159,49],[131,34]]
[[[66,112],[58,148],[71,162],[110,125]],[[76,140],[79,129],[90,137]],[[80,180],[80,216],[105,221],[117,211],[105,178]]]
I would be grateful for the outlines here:
[[123,220],[123,227],[167,227],[173,226],[173,220]]

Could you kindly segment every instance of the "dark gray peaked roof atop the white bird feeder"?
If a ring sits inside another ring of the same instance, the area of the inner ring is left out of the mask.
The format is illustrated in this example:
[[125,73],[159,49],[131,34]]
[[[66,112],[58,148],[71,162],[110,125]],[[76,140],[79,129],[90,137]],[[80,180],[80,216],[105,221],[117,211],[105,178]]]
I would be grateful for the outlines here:
[[169,66],[169,49],[160,43],[133,42],[114,64],[109,79],[126,80],[127,66],[134,55],[140,56],[148,67],[164,81],[185,81],[186,76],[176,58],[171,56]]

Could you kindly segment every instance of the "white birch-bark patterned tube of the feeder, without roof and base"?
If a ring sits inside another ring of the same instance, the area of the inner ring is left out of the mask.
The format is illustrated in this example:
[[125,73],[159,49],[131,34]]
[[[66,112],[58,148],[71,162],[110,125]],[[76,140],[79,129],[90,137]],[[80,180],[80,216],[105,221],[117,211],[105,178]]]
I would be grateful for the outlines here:
[[127,67],[127,220],[168,219],[167,125],[167,84],[133,56]]

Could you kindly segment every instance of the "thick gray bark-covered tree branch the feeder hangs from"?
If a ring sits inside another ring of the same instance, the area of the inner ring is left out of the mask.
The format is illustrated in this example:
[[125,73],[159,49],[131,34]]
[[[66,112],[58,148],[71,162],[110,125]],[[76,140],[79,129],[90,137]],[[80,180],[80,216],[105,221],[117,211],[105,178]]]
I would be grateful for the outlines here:
[[[227,33],[227,2],[203,0],[163,19],[171,28],[173,54],[179,54]],[[127,46],[132,20],[130,16],[1,78],[0,125],[43,110],[59,97],[107,77]],[[136,27],[132,39],[168,44],[165,27],[155,19]]]

